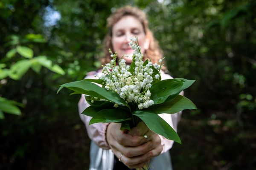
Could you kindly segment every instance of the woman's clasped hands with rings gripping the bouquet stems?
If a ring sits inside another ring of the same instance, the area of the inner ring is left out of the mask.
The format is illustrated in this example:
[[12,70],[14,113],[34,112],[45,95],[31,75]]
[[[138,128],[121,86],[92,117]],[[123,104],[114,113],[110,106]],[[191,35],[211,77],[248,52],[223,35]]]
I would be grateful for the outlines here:
[[120,123],[110,123],[106,139],[112,152],[127,167],[143,167],[151,158],[162,152],[160,137],[148,129],[144,122],[140,122],[128,132],[121,131],[120,127]]

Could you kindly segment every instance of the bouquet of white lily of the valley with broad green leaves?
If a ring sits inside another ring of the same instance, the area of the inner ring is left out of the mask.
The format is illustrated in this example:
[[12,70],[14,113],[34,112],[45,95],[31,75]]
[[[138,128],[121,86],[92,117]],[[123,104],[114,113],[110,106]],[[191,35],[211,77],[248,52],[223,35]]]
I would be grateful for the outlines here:
[[143,62],[137,38],[132,37],[129,45],[134,49],[131,65],[126,65],[123,58],[116,61],[117,54],[110,50],[111,62],[103,66],[99,79],[69,82],[61,85],[58,92],[65,87],[73,90],[73,94],[85,94],[90,106],[82,114],[92,116],[90,124],[118,122],[122,124],[121,130],[131,130],[143,121],[154,133],[181,143],[175,130],[158,114],[196,109],[189,99],[179,95],[195,80],[161,81],[162,59],[154,64],[149,60]]

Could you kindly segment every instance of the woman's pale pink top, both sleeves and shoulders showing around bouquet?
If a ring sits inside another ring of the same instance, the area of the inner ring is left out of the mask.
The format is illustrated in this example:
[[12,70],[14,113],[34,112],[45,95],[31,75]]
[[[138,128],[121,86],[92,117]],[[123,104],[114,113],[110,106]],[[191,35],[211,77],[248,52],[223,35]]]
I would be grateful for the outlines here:
[[[86,79],[96,79],[96,77],[94,77],[95,74],[98,74],[100,76],[101,72],[90,72],[87,74],[87,77],[85,77]],[[161,79],[172,79],[172,77],[169,74],[165,74],[163,72],[161,72]],[[180,93],[181,95],[183,95],[183,91]],[[108,123],[95,123],[92,125],[89,125],[90,119],[92,117],[90,116],[86,116],[84,114],[81,114],[85,108],[87,108],[89,106],[89,104],[86,102],[85,98],[84,98],[84,94],[82,94],[81,99],[78,103],[78,107],[79,107],[79,116],[81,118],[81,120],[84,122],[84,124],[86,125],[86,129],[87,129],[87,133],[89,138],[95,142],[99,147],[102,147],[103,149],[110,149],[108,143],[106,142],[106,130],[108,127]],[[169,123],[169,125],[172,126],[172,128],[177,131],[177,124],[180,120],[180,116],[181,116],[181,112],[175,113],[175,114],[167,114],[167,113],[162,113],[159,114],[159,116],[161,116],[167,123]],[[160,135],[159,135],[160,136]],[[160,136],[161,139],[161,144],[163,146],[163,150],[162,153],[168,151],[172,145],[173,142],[172,140],[166,139],[163,136]]]

